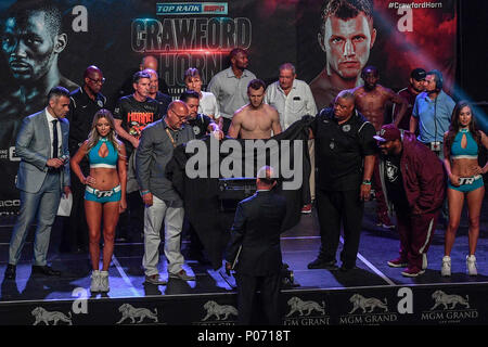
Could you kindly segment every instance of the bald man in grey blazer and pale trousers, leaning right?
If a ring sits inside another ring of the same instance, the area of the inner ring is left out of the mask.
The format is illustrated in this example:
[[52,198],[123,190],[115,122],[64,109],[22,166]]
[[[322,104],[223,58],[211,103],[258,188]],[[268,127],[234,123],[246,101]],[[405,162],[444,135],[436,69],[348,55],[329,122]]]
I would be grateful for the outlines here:
[[194,139],[191,127],[185,126],[189,116],[187,104],[180,100],[169,104],[168,113],[144,128],[139,149],[136,152],[136,177],[144,202],[144,257],[142,266],[145,283],[166,284],[159,279],[159,230],[165,221],[165,256],[168,260],[169,278],[192,281],[182,268],[184,264],[180,249],[183,226],[183,201],[166,178],[166,167],[174,149]]

